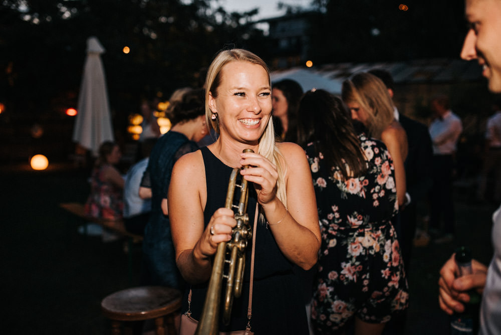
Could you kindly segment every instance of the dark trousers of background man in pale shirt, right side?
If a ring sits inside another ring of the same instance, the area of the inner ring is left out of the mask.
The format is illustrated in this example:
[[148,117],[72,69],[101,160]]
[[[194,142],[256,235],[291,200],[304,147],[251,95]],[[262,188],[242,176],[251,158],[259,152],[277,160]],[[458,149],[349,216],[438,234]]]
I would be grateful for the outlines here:
[[454,206],[452,203],[452,155],[434,155],[432,160],[433,185],[430,191],[430,228],[440,229],[443,216],[444,233],[454,234]]

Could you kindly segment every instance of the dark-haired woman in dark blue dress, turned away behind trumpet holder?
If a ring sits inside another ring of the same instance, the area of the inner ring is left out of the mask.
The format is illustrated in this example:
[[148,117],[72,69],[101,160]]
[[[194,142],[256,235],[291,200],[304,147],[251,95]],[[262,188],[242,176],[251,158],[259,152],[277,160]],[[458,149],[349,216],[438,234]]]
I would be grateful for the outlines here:
[[[181,89],[179,98],[170,100],[167,116],[172,123],[160,136],[150,154],[148,167],[141,180],[141,192],[150,189],[151,214],[144,230],[142,282],[184,288],[175,264],[170,218],[167,209],[172,167],[184,154],[198,150],[196,142],[208,133],[202,89]],[[169,199],[170,201],[170,199]]]

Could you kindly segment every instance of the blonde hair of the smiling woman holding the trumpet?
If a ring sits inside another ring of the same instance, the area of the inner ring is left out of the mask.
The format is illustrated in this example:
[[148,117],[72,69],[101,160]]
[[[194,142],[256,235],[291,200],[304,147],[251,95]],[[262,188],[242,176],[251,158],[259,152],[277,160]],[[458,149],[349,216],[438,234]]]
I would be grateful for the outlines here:
[[[205,78],[205,119],[207,124],[210,122],[216,133],[219,133],[219,121],[211,119],[212,111],[209,107],[209,94],[212,97],[217,97],[217,88],[221,84],[221,70],[230,62],[249,62],[252,64],[261,65],[268,74],[268,83],[271,87],[270,70],[266,63],[256,54],[243,50],[231,49],[223,50],[217,54],[207,70],[207,77]],[[258,153],[268,158],[272,163],[277,166],[279,178],[277,181],[277,197],[282,203],[287,206],[287,194],[285,187],[284,176],[287,171],[285,160],[275,143],[275,129],[273,128],[273,119],[270,115],[266,129],[259,140]]]

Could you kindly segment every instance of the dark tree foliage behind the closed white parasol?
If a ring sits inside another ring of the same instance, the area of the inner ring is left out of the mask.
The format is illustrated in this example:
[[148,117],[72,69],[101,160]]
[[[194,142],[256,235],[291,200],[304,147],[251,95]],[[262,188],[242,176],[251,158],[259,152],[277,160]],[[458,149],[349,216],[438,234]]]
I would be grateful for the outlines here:
[[[260,53],[257,11],[226,13],[210,0],[4,0],[0,4],[0,99],[33,113],[76,104],[86,40],[96,36],[112,109],[140,97],[200,85],[198,71],[225,46]],[[122,49],[128,46],[130,53]]]

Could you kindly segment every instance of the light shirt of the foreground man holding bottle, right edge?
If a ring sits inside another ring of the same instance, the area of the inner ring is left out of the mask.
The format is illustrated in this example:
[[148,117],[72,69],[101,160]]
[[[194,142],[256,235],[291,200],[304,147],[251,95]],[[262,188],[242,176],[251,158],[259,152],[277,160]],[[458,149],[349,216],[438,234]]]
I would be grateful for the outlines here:
[[490,261],[480,304],[481,335],[501,334],[501,206],[492,215],[492,245]]

